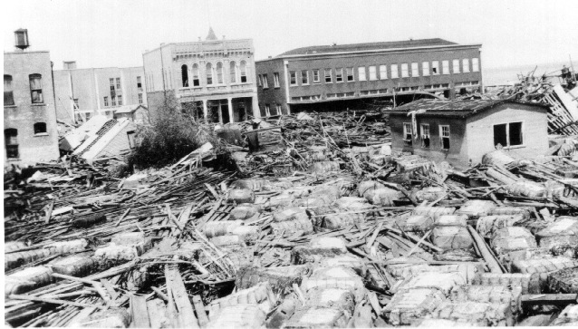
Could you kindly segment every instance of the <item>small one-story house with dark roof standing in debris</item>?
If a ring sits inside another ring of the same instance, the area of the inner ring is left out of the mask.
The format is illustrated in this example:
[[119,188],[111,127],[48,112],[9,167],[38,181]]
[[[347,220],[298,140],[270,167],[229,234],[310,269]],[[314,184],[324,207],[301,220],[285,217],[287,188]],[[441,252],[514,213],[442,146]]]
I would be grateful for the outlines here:
[[390,111],[391,150],[458,169],[503,148],[518,158],[548,150],[548,107],[511,100],[426,100]]

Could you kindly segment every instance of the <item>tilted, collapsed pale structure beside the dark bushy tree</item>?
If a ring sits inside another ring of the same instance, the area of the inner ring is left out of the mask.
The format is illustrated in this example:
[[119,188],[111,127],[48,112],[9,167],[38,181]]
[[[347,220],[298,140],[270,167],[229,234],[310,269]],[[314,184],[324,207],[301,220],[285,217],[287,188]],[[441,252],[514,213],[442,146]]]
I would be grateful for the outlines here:
[[93,116],[61,140],[61,150],[72,151],[89,163],[98,158],[119,156],[136,146],[135,124],[127,118]]

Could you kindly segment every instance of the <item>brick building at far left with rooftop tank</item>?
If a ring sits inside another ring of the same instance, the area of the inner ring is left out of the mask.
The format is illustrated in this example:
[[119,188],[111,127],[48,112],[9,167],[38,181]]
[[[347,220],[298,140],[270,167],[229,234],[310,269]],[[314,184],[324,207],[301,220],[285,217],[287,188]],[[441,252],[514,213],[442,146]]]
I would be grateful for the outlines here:
[[48,51],[26,51],[28,32],[15,31],[14,52],[4,53],[5,167],[59,157],[53,72]]

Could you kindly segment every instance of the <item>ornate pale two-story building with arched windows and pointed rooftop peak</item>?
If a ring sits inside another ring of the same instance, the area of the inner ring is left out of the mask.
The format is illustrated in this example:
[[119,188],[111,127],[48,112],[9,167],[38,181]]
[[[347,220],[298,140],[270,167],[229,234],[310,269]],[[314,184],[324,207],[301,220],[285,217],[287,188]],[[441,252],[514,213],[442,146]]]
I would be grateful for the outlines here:
[[253,40],[161,44],[142,55],[150,121],[176,105],[197,120],[245,121],[258,116]]

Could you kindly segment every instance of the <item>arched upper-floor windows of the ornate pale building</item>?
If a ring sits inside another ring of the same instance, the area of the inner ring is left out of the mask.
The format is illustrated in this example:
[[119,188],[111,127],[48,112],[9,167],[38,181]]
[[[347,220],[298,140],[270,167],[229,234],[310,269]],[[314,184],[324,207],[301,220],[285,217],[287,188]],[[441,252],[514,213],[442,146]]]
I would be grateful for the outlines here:
[[[191,67],[191,79],[188,79],[188,66],[187,64],[183,64],[180,67],[180,74],[181,74],[181,85],[184,88],[189,86],[192,87],[199,87],[200,86],[200,70],[197,63],[194,63]],[[247,82],[247,70],[246,70],[246,62],[241,61],[239,66],[237,67],[234,61],[229,63],[229,83],[246,83]],[[215,68],[213,68],[213,63],[207,63],[205,65],[205,78],[207,81],[207,85],[212,84],[224,84],[225,83],[225,70],[223,63],[217,62]]]

